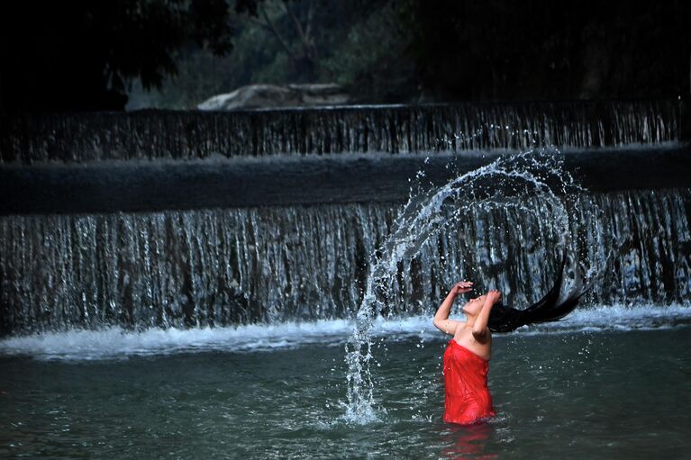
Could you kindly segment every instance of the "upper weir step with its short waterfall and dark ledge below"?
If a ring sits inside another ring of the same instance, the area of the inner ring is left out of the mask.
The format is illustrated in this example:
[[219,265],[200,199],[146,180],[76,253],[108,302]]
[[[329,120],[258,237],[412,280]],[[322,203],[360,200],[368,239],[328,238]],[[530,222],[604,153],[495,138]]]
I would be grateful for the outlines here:
[[18,117],[0,214],[400,202],[421,169],[440,184],[543,146],[593,190],[686,187],[681,117],[676,101]]

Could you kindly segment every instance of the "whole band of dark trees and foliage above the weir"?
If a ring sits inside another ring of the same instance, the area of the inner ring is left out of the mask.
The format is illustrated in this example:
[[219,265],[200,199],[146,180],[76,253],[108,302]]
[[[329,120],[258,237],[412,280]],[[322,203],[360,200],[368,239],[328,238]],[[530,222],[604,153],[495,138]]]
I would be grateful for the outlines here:
[[0,113],[193,108],[335,82],[359,103],[686,97],[691,3],[111,0],[0,5]]

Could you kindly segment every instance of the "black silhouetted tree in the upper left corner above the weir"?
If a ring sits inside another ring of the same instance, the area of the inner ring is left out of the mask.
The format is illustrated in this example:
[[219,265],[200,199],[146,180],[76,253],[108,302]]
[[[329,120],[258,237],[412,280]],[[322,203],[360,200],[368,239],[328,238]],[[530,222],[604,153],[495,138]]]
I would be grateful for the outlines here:
[[227,53],[231,35],[225,0],[4,2],[0,112],[123,110],[132,78],[158,87],[176,50]]

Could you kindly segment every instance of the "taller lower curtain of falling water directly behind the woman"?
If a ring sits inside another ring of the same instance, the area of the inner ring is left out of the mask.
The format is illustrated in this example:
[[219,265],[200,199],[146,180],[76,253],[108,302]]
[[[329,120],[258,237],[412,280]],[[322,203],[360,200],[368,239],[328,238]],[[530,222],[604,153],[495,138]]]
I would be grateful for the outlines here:
[[[386,313],[432,313],[463,277],[517,306],[536,300],[551,281],[556,236],[543,200],[522,204],[471,209],[435,235],[390,274]],[[574,249],[603,264],[590,302],[688,302],[688,189],[581,194],[571,206]],[[399,211],[350,203],[0,217],[2,329],[350,318]]]

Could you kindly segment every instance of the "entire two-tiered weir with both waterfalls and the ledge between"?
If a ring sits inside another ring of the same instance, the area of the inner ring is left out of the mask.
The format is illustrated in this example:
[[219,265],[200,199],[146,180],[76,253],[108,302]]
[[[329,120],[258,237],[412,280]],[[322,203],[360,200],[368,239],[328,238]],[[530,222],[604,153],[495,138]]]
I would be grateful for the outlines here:
[[[570,252],[598,264],[587,302],[686,303],[682,114],[662,101],[5,119],[0,334],[349,318],[411,180],[546,146],[590,189],[568,198]],[[519,200],[415,248],[387,274],[388,311],[429,313],[459,275],[537,300],[554,211]]]

